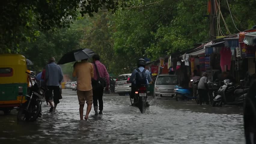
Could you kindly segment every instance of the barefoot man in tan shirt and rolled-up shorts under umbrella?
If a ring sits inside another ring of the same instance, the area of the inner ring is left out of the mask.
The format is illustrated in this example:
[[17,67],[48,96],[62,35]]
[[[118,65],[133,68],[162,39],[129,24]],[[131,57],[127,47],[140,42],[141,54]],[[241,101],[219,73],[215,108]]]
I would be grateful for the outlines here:
[[91,79],[93,78],[92,64],[87,62],[87,59],[84,59],[81,62],[76,62],[74,64],[73,77],[77,77],[77,96],[80,105],[80,120],[83,120],[85,101],[87,104],[87,110],[84,119],[87,120],[93,104],[91,82]]

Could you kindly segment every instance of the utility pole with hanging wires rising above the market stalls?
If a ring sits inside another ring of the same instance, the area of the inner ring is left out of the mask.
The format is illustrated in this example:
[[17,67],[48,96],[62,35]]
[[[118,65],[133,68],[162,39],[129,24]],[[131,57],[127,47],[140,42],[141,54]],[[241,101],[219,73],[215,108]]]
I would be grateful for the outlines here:
[[211,7],[210,7],[210,39],[214,40],[216,39],[216,10],[215,10],[215,0],[209,0],[211,1]]

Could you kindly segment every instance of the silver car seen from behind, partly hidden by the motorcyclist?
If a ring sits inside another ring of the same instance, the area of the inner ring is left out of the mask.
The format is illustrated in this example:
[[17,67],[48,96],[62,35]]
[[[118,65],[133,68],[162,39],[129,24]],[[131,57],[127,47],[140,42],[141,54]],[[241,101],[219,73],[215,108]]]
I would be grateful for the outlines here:
[[130,94],[131,92],[131,83],[127,82],[130,77],[131,77],[131,73],[129,74],[121,74],[117,77],[117,81],[115,83],[115,93],[118,93],[118,95],[126,95],[126,94]]

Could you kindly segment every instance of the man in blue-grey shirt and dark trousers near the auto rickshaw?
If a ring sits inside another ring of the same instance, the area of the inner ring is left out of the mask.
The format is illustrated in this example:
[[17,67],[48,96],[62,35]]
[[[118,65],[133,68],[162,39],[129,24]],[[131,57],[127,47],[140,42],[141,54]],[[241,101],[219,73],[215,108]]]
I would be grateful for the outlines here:
[[[46,96],[48,97],[47,99],[51,106],[50,112],[56,110],[57,104],[59,104],[59,100],[62,99],[59,90],[59,85],[62,80],[63,74],[61,67],[55,63],[55,58],[52,57],[49,59],[49,64],[47,64],[45,67],[45,81],[48,88]],[[52,98],[54,107],[51,100]]]

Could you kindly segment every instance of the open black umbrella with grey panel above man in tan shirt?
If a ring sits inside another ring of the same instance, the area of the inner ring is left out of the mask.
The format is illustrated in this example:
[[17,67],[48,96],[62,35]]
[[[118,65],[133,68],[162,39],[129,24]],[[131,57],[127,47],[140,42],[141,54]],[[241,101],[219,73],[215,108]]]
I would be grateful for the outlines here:
[[95,55],[95,52],[93,52],[91,49],[73,50],[63,55],[60,58],[58,64],[66,64],[73,61],[79,61],[79,60],[91,58],[93,55]]

